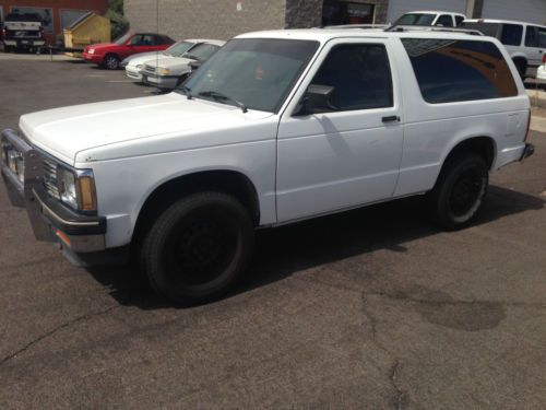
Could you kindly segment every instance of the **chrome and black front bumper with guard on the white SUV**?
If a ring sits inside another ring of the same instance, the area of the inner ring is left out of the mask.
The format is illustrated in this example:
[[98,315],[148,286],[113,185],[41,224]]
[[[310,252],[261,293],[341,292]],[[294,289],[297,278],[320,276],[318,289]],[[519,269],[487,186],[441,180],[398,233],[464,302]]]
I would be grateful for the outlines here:
[[59,241],[74,253],[95,253],[106,249],[106,218],[82,215],[51,198],[43,184],[43,155],[28,145],[15,131],[1,133],[1,147],[16,152],[24,161],[24,181],[14,167],[1,162],[1,174],[13,206],[26,208],[38,241]]

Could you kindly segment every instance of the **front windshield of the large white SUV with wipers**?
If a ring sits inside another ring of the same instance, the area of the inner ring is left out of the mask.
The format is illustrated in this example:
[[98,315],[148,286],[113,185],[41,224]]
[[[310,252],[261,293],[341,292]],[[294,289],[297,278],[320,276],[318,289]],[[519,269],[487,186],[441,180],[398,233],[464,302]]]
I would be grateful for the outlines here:
[[195,71],[180,92],[276,113],[318,47],[312,40],[233,39]]

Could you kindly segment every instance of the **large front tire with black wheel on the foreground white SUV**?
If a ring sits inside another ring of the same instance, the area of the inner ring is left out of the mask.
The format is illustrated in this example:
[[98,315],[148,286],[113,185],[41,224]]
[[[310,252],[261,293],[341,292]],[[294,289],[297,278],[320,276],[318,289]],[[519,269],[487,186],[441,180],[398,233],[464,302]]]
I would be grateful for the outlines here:
[[165,210],[142,243],[152,288],[185,305],[216,298],[245,272],[254,244],[242,204],[221,192],[185,197]]

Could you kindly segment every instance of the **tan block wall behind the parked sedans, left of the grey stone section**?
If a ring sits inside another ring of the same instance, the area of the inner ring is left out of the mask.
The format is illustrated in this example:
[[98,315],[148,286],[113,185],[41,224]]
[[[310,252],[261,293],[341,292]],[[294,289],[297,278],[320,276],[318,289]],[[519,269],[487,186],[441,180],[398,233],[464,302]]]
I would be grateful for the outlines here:
[[283,28],[285,0],[124,0],[133,31],[167,34],[174,39],[229,39],[237,34]]

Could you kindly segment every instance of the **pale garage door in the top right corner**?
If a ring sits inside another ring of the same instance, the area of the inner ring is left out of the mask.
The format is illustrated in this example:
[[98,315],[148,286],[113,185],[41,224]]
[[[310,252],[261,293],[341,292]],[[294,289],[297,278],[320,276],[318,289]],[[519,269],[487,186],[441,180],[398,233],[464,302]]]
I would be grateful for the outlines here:
[[485,0],[482,16],[484,19],[519,20],[535,24],[546,24],[546,1]]

